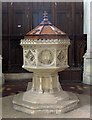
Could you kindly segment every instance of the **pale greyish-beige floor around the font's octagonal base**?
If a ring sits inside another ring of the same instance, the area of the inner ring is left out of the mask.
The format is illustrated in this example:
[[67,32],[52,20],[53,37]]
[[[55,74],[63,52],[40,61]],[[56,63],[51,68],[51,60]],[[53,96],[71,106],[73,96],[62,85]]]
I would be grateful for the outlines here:
[[[22,118],[29,118],[29,119],[65,119],[68,120],[72,120],[72,119],[82,119],[86,118],[88,119],[92,119],[92,117],[90,116],[91,113],[91,106],[90,106],[90,96],[89,95],[85,95],[84,94],[76,94],[78,96],[78,98],[80,99],[80,107],[72,110],[70,112],[67,113],[62,113],[62,114],[26,114],[23,110],[21,109],[23,112],[20,112],[18,110],[13,109],[13,104],[12,104],[12,99],[14,98],[14,95],[10,95],[10,96],[6,96],[3,97],[2,100],[0,99],[0,103],[2,103],[3,105],[3,110],[2,110],[2,114],[0,114],[0,116],[2,116],[3,119],[7,119],[7,118],[11,118],[11,119],[17,119],[19,118],[20,120]],[[72,96],[71,96],[72,97]],[[22,98],[22,97],[21,97]],[[19,100],[19,99],[18,99]],[[1,108],[1,106],[0,106]],[[27,112],[27,111],[26,111]]]

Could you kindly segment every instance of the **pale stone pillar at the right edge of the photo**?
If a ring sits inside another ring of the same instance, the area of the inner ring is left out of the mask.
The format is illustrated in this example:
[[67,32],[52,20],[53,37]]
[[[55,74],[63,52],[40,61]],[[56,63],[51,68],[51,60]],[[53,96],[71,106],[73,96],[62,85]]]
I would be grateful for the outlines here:
[[92,85],[92,2],[84,0],[84,34],[87,34],[87,51],[84,55],[83,83]]

